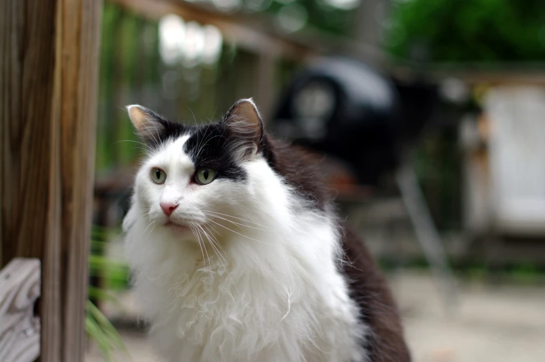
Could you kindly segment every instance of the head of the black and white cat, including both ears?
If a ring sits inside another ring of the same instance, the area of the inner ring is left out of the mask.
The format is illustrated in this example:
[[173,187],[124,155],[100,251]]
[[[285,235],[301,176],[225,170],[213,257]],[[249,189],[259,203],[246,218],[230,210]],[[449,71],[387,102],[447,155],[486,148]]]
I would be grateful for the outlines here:
[[219,122],[200,126],[170,122],[142,106],[127,110],[149,150],[136,176],[133,213],[190,235],[191,227],[207,223],[229,220],[234,227],[238,211],[256,204],[250,181],[259,175],[249,174],[248,165],[263,169],[267,145],[252,99],[238,101]]

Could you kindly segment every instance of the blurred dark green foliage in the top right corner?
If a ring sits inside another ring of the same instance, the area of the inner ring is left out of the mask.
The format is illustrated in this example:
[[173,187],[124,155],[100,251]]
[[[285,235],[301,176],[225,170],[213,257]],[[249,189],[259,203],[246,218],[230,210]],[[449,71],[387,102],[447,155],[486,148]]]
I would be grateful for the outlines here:
[[542,0],[406,0],[392,9],[386,47],[431,61],[543,61]]

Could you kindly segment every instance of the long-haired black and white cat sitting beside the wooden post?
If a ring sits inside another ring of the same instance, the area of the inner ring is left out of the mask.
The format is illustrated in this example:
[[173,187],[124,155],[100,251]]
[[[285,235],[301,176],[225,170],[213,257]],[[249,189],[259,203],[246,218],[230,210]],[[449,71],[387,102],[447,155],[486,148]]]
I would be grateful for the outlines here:
[[304,151],[252,99],[219,122],[129,117],[148,151],[123,222],[168,362],[408,362],[396,304]]

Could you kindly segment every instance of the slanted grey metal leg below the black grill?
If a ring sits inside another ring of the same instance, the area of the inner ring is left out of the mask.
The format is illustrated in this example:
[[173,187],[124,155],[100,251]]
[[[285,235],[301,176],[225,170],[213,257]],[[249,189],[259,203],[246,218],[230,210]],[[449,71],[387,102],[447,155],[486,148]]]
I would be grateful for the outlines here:
[[448,264],[445,249],[439,232],[435,228],[428,206],[422,195],[416,174],[409,165],[400,168],[397,182],[401,197],[409,213],[409,217],[423,252],[430,263],[447,311],[452,311],[457,305],[457,287],[454,274]]

